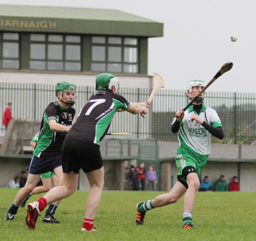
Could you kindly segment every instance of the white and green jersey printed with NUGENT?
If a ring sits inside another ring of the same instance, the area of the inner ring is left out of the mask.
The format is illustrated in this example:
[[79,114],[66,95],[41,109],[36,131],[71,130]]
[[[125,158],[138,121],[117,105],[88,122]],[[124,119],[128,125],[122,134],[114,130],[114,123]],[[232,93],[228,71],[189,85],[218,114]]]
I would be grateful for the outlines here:
[[[207,163],[210,154],[210,133],[201,124],[191,121],[193,114],[197,113],[192,106],[184,112],[184,118],[180,123],[178,132],[179,148],[177,153],[182,154],[184,158],[185,156],[192,156],[198,161],[199,166],[203,166]],[[214,109],[205,107],[203,104],[198,115],[212,126],[222,127],[220,118]],[[172,123],[175,121],[176,118]]]

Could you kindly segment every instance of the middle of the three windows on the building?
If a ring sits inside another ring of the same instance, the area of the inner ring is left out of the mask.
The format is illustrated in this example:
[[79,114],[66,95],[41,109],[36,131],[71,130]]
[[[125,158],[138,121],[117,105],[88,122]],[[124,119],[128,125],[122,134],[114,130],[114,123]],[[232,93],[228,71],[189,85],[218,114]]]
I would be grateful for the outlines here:
[[30,69],[81,71],[81,37],[31,34]]

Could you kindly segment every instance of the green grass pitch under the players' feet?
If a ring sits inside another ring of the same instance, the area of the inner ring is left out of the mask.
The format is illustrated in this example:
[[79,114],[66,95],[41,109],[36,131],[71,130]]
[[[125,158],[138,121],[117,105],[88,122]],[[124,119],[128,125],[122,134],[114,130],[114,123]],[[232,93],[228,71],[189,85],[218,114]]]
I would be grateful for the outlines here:
[[[61,201],[56,211],[60,225],[42,223],[39,217],[34,231],[25,225],[26,208],[19,209],[14,221],[4,221],[16,192],[0,189],[0,240],[256,240],[256,193],[253,192],[198,193],[193,224],[199,229],[183,230],[183,198],[148,211],[144,225],[137,226],[136,204],[163,192],[104,191],[94,219],[97,232],[80,231],[88,192],[77,191]],[[30,201],[41,196],[32,196]]]

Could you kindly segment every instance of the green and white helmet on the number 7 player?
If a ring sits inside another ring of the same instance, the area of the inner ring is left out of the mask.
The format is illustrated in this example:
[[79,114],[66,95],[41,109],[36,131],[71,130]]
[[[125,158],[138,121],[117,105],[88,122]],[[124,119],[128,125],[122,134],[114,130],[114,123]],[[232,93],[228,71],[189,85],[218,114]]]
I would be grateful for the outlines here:
[[109,73],[98,74],[98,76],[96,77],[97,91],[106,92],[111,90],[112,86],[115,87],[115,93],[119,92],[119,81],[117,76],[114,76],[113,74]]

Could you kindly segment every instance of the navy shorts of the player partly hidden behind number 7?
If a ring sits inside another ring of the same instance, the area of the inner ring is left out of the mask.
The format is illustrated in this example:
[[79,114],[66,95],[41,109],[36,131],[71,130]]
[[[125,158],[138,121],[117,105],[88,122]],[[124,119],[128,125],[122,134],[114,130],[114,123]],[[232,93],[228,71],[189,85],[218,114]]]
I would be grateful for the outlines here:
[[42,174],[46,172],[53,172],[53,170],[62,165],[61,156],[56,156],[51,159],[44,159],[38,156],[32,156],[28,173]]

